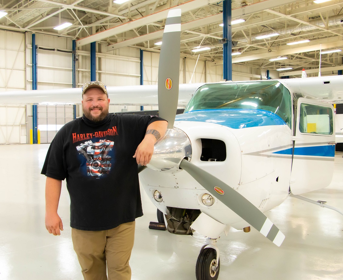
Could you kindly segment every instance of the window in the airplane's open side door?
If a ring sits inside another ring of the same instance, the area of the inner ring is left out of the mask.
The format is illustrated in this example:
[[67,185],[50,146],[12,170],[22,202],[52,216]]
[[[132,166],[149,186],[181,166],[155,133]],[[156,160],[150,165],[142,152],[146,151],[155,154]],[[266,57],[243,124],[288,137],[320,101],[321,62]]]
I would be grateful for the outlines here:
[[332,135],[332,110],[328,107],[302,103],[300,105],[299,131],[301,133]]

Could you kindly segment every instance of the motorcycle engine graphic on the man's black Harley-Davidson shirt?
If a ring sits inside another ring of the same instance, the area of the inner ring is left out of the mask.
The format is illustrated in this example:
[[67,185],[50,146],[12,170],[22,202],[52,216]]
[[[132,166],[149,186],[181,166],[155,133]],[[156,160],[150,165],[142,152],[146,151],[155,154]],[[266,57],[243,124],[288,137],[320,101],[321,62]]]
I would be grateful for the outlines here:
[[87,141],[76,147],[80,155],[83,155],[87,162],[88,176],[102,176],[108,174],[111,169],[111,157],[108,152],[112,150],[113,141],[100,140],[99,142]]

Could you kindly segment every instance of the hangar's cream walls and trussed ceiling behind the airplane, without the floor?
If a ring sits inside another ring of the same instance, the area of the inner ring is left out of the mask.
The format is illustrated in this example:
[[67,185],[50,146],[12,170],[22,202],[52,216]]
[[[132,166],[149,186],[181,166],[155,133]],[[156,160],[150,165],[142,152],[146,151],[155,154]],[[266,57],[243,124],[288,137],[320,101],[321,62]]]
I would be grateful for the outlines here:
[[[156,43],[162,38],[167,9],[176,5],[182,10],[180,83],[222,81],[223,2],[2,1],[0,90],[33,89],[32,34],[37,46],[37,89],[73,87],[73,40],[75,87],[90,80],[93,41],[97,80],[108,86],[139,85],[142,75],[144,85],[156,84],[161,48]],[[342,73],[343,56],[338,51],[343,45],[342,8],[340,0],[232,1],[232,80],[266,79],[267,72],[271,78],[300,77],[303,68],[308,76],[317,76],[319,64],[321,75]],[[62,23],[72,25],[54,29]],[[287,45],[294,42],[300,43]],[[193,52],[199,47],[208,49]],[[320,50],[338,52],[321,54]],[[110,110],[122,109],[138,111],[140,105]],[[41,143],[50,143],[58,128],[72,119],[73,111],[72,106],[39,106]],[[29,143],[31,108],[0,106],[0,113],[0,143]],[[81,114],[76,108],[76,116]]]

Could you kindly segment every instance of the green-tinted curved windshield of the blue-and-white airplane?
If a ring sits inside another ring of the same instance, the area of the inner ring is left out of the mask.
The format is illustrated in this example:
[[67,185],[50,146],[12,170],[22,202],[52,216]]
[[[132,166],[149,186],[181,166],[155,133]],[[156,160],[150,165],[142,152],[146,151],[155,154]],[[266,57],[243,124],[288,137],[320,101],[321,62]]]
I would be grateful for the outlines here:
[[267,110],[291,127],[291,94],[275,80],[203,85],[189,101],[185,112],[206,109]]

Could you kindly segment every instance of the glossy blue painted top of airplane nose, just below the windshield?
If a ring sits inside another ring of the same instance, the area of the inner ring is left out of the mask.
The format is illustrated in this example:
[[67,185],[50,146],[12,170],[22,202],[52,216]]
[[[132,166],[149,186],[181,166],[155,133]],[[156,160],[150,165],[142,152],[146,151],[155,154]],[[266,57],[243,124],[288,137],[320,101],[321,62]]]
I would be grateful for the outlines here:
[[287,125],[278,115],[259,109],[195,110],[176,115],[175,121],[210,122],[232,129],[265,125]]

